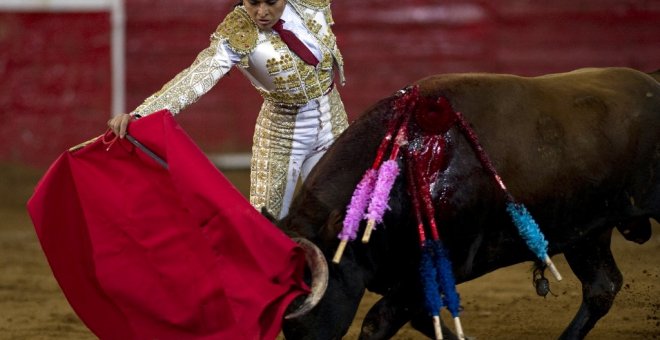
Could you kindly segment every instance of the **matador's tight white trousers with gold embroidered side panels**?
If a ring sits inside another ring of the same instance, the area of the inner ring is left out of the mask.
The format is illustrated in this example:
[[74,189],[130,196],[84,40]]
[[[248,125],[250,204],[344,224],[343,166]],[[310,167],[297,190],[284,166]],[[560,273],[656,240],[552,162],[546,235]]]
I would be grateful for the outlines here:
[[265,102],[253,138],[250,203],[286,216],[298,180],[307,178],[347,126],[336,89],[297,109]]

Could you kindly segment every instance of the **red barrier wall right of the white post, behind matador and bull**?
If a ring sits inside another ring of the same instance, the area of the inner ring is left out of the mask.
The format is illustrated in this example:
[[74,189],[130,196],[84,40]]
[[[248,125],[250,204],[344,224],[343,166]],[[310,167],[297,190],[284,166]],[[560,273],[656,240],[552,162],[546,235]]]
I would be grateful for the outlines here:
[[[234,1],[129,1],[129,109],[187,67]],[[171,6],[182,6],[172,11]],[[333,3],[351,119],[434,73],[539,75],[660,68],[660,2],[361,0]],[[261,100],[238,72],[179,121],[209,151],[249,151]]]

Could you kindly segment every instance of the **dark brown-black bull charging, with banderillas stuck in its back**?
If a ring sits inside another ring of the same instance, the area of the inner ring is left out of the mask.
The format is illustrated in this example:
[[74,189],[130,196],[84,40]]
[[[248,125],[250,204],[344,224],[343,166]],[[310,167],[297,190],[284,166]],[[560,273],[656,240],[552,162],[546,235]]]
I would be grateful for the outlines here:
[[[579,339],[610,309],[622,284],[610,251],[613,228],[644,242],[649,218],[660,220],[660,84],[657,73],[584,69],[523,78],[450,74],[416,83],[427,98],[444,96],[473,127],[486,153],[582,283],[582,305],[561,335]],[[374,160],[396,95],[367,110],[328,150],[294,199],[283,230],[307,237],[331,259],[355,185]],[[458,283],[534,261],[505,197],[456,127],[451,157],[433,187],[448,192],[437,209],[440,233]],[[383,295],[367,314],[361,338],[393,336],[406,322],[433,336],[422,307],[419,241],[405,174],[394,184],[383,225],[371,241],[349,243],[330,267],[328,290],[308,315],[287,320],[287,338],[345,334],[365,289]],[[437,206],[437,202],[435,202]]]

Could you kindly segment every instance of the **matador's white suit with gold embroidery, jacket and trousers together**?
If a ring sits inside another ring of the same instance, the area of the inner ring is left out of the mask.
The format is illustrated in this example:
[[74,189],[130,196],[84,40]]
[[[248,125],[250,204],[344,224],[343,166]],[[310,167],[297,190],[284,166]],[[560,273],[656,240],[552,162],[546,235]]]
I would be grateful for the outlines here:
[[331,0],[288,0],[281,19],[319,60],[303,62],[274,31],[261,31],[243,6],[227,15],[211,45],[131,114],[195,102],[236,65],[261,93],[252,146],[250,203],[283,217],[293,192],[328,146],[347,127],[346,112],[333,86],[334,69],[344,83],[343,59],[330,29]]

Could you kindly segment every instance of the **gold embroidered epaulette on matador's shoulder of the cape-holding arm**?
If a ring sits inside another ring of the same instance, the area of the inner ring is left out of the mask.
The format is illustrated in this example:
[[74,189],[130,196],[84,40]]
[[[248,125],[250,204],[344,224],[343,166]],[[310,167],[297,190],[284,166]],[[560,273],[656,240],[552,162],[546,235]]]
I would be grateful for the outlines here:
[[226,40],[229,48],[234,52],[245,55],[252,52],[257,46],[259,28],[250,19],[245,8],[237,6],[227,14],[212,37]]

